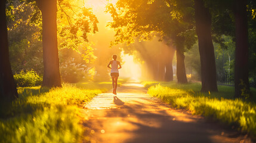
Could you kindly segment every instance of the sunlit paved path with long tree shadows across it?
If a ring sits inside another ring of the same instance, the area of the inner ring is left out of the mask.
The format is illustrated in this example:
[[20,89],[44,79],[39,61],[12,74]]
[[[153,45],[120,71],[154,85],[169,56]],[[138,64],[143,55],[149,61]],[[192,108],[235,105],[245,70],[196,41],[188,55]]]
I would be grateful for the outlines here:
[[82,111],[89,142],[247,142],[243,136],[175,110],[150,97],[138,82],[100,94]]

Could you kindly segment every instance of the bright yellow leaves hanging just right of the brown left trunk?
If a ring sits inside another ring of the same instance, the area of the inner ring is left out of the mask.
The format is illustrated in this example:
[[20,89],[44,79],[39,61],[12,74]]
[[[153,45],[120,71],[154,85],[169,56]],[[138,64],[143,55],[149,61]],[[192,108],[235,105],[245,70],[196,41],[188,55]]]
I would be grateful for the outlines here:
[[86,48],[88,33],[98,32],[97,17],[91,8],[81,7],[81,1],[57,1],[58,5],[58,48],[70,48],[78,52],[79,47]]

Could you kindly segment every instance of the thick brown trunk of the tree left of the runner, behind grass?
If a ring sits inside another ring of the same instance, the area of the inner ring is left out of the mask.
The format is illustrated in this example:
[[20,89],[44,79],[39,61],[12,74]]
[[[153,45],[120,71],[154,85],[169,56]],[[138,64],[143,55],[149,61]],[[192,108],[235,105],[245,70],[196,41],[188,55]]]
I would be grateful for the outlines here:
[[57,46],[57,1],[38,0],[42,12],[44,77],[42,86],[61,86]]

